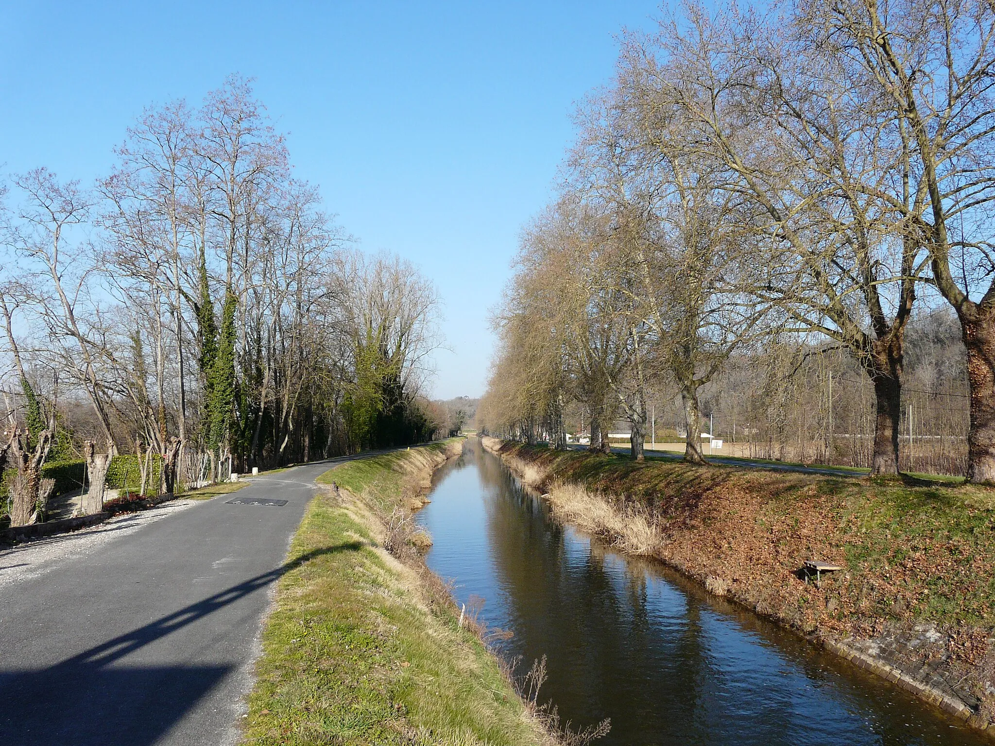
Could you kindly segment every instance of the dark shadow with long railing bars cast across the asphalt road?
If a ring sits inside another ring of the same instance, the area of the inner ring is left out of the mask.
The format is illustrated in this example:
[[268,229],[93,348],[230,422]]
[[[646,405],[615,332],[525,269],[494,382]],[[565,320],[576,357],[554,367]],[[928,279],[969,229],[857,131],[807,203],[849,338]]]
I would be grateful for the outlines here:
[[47,668],[0,670],[0,744],[150,746],[237,666],[131,666],[123,659],[128,653],[265,589],[311,559],[363,546],[346,542],[308,552]]

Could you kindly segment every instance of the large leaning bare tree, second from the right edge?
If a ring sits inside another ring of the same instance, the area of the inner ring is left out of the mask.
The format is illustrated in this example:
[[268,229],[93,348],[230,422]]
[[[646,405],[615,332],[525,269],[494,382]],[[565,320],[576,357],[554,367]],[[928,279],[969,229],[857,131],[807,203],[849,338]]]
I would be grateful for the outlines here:
[[757,298],[859,360],[878,397],[874,470],[896,472],[901,339],[922,269],[921,234],[877,198],[897,188],[898,202],[915,201],[886,136],[900,127],[869,124],[865,92],[832,60],[753,19],[693,5],[655,44],[629,45],[625,85],[651,126],[680,112],[686,148],[711,160],[743,226],[765,238]]

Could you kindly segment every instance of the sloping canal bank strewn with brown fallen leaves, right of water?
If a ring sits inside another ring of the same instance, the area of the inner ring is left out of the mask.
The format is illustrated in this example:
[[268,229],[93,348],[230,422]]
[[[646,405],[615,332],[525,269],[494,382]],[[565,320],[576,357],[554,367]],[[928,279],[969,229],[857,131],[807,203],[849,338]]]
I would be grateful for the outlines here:
[[995,732],[995,489],[483,442],[561,520]]

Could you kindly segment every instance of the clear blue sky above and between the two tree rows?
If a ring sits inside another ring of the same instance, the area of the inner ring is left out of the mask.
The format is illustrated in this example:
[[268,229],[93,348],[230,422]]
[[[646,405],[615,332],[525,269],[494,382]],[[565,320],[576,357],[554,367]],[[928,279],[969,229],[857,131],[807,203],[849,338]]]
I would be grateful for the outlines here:
[[299,178],[444,301],[434,394],[483,393],[489,311],[552,195],[571,114],[658,0],[0,0],[0,164],[91,183],[143,106],[255,78]]

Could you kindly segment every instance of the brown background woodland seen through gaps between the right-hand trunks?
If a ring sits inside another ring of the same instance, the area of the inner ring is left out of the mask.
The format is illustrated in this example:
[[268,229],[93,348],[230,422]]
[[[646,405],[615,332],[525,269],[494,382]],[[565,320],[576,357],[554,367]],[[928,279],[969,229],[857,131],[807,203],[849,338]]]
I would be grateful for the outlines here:
[[[806,357],[811,352],[784,345],[730,357],[698,391],[701,432],[724,441],[721,449],[711,451],[705,439],[705,456],[872,466],[874,387],[849,356],[831,352]],[[901,470],[966,473],[965,357],[952,313],[940,308],[909,322],[898,432]],[[684,443],[685,412],[667,378],[651,379],[646,396],[651,412],[647,444],[651,438],[657,444]],[[571,402],[564,413],[566,431],[586,437],[587,415],[585,405]],[[616,422],[612,430],[628,432],[628,424]]]

